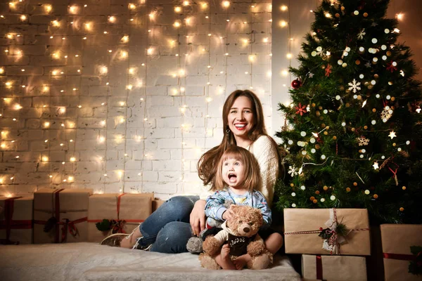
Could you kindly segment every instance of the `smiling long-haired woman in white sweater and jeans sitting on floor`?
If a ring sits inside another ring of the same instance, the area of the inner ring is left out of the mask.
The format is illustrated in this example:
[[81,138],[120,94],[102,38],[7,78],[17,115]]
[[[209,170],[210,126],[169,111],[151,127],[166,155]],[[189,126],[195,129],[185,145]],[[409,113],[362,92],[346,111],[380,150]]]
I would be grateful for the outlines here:
[[[192,234],[199,235],[205,229],[205,199],[211,194],[210,191],[215,191],[213,185],[217,164],[224,150],[230,145],[249,150],[257,159],[262,176],[262,187],[257,190],[262,192],[271,207],[274,185],[280,171],[280,157],[275,141],[265,130],[260,100],[251,91],[234,91],[224,103],[222,117],[222,143],[205,152],[198,162],[198,175],[204,185],[211,186],[209,192],[200,197],[172,197],[130,235],[110,235],[101,244],[150,249],[162,253],[187,251],[186,242]],[[265,244],[267,249],[275,254],[283,245],[283,237],[279,233],[270,233],[265,239]],[[250,256],[245,255],[238,259],[239,263],[245,263]]]

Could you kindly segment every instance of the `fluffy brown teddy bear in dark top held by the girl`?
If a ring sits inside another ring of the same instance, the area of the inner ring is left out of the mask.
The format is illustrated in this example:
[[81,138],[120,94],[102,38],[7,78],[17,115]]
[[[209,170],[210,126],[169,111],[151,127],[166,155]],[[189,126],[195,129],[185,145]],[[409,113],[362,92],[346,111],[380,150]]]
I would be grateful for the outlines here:
[[199,255],[201,266],[207,269],[221,269],[215,261],[215,256],[221,251],[222,244],[227,242],[231,261],[248,253],[252,257],[246,265],[248,268],[267,268],[272,263],[273,256],[265,248],[264,241],[258,234],[263,223],[261,211],[249,206],[232,206],[231,209],[234,215],[224,221],[222,230],[215,236],[206,237],[203,242],[205,252]]

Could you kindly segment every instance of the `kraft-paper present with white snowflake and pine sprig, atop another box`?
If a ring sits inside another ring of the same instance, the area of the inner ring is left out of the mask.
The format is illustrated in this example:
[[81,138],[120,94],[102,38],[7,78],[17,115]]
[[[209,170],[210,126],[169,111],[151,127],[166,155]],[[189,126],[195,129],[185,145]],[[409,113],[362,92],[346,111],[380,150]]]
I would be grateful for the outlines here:
[[287,254],[369,256],[366,209],[284,209]]

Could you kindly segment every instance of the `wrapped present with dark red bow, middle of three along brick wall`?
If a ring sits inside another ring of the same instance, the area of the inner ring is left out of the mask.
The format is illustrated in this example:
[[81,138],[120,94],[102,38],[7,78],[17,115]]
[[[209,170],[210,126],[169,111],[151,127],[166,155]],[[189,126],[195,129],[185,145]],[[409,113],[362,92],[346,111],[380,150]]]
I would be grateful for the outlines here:
[[43,188],[34,192],[34,243],[88,241],[91,189]]

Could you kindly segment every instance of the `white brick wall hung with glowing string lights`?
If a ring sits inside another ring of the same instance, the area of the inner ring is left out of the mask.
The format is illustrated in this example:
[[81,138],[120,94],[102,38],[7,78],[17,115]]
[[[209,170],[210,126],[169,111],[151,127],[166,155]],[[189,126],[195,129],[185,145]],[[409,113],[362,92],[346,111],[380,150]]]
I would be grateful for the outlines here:
[[0,4],[0,195],[197,193],[226,96],[253,87],[271,117],[271,1],[129,2]]

